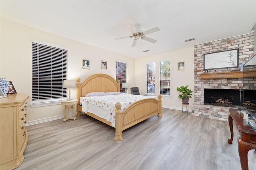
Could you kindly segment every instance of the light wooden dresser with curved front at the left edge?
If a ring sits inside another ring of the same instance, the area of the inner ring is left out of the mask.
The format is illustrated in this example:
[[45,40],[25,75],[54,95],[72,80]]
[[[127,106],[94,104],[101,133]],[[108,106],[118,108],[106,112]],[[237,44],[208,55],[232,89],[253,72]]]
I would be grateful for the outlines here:
[[0,170],[21,165],[28,143],[26,108],[28,95],[18,93],[0,101]]

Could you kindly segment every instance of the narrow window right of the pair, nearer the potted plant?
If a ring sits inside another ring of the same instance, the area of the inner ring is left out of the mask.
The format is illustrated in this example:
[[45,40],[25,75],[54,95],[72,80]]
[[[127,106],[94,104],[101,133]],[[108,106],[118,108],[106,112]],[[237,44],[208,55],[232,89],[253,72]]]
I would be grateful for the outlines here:
[[170,96],[170,61],[160,61],[160,94]]

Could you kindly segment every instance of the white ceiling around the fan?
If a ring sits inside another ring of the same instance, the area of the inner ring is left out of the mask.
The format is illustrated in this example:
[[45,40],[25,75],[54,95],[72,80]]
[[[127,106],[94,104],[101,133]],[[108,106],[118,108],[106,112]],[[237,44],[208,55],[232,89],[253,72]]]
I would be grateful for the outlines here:
[[[256,0],[0,0],[1,18],[138,58],[247,34],[256,23]],[[160,31],[134,38],[131,28]],[[194,41],[185,42],[195,38]],[[148,52],[143,52],[148,50]]]

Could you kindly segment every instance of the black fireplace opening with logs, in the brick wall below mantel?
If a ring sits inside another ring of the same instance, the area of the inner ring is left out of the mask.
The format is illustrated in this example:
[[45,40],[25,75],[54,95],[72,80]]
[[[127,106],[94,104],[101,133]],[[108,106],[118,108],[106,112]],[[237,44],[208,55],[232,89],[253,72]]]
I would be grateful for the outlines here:
[[204,89],[204,104],[213,106],[246,106],[256,110],[256,90]]

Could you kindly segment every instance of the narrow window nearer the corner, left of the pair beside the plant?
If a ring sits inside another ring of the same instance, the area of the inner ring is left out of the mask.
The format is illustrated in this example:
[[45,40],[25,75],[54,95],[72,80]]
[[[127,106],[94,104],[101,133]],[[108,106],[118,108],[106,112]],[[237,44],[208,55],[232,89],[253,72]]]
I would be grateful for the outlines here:
[[146,76],[147,76],[147,86],[146,92],[148,94],[155,94],[155,79],[156,79],[156,63],[146,64]]

